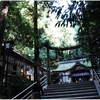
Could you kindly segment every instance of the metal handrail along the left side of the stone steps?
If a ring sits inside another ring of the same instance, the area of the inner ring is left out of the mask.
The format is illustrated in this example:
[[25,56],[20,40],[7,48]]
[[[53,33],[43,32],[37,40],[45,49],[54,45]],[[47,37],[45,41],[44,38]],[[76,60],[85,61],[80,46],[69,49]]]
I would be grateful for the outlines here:
[[[40,82],[41,85],[43,87],[47,86],[47,75],[44,75],[42,78],[40,78]],[[15,97],[13,97],[11,100],[13,99],[27,99],[30,98],[32,96],[32,87],[33,85],[35,85],[37,82],[34,82],[33,84],[31,84],[29,87],[27,87],[26,89],[24,89],[22,92],[20,92],[19,94],[17,94]]]

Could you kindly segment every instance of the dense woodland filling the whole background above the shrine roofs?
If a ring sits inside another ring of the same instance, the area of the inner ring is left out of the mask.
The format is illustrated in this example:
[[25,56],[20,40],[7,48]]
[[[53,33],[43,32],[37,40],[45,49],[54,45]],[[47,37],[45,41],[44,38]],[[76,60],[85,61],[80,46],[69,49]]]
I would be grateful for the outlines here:
[[[50,67],[58,61],[86,57],[94,69],[100,69],[100,2],[72,1],[60,5],[59,1],[37,2],[37,29],[34,32],[34,2],[0,1],[0,52],[1,44],[13,40],[14,50],[31,60],[38,43],[39,57],[47,62],[46,46],[70,50],[50,50]],[[36,38],[38,36],[38,40]]]

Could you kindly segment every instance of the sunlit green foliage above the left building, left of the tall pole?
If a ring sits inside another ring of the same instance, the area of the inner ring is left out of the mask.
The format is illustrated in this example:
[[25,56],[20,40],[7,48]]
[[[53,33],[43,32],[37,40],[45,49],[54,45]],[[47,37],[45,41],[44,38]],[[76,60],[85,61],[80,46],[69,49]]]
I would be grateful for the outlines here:
[[[34,42],[37,41],[33,23],[34,7],[29,1],[11,1],[6,21],[4,41],[13,40],[14,49],[22,54],[34,57]],[[39,33],[43,30],[39,29]],[[39,41],[38,45],[41,43]]]

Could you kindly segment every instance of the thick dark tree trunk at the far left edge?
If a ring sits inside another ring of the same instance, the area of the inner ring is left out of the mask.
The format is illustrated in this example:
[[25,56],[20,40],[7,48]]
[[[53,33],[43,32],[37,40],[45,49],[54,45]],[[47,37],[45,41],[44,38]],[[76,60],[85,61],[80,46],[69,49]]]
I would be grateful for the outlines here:
[[[0,56],[1,56],[3,36],[4,36],[4,30],[5,30],[5,24],[6,24],[6,16],[8,13],[9,1],[2,1],[0,6],[1,6],[0,7]],[[3,67],[4,66],[0,66],[0,85],[2,83]]]

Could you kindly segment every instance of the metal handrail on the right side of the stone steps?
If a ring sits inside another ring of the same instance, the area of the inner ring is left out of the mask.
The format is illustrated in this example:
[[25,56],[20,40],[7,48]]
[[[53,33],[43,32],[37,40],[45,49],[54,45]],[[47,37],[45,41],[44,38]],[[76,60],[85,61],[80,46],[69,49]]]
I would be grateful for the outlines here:
[[93,69],[93,76],[94,76],[94,83],[95,83],[97,92],[98,92],[99,97],[100,97],[100,78],[98,77],[98,75],[94,69]]

